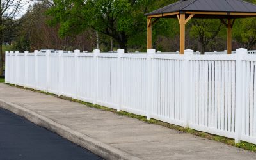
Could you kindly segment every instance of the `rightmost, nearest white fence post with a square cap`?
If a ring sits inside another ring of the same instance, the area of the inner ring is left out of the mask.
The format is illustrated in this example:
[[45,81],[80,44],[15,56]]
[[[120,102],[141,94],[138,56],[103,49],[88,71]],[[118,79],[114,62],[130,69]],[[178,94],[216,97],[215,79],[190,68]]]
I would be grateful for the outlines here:
[[239,143],[241,140],[241,129],[242,129],[242,113],[243,113],[243,57],[247,54],[247,49],[236,49],[236,119],[235,119],[235,128],[236,128],[236,138],[235,142]]

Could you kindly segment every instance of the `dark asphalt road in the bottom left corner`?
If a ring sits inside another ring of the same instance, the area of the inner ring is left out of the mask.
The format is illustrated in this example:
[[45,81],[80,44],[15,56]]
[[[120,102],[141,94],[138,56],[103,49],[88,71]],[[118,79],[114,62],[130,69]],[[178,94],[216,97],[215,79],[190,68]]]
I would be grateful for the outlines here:
[[92,152],[0,108],[0,159],[102,159]]

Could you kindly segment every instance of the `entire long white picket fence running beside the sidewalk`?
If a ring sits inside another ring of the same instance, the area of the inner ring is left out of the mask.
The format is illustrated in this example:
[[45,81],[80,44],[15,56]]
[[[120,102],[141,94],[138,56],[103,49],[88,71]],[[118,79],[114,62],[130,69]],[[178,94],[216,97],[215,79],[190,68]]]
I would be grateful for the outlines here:
[[6,83],[256,144],[256,56],[246,49],[232,55],[11,51]]

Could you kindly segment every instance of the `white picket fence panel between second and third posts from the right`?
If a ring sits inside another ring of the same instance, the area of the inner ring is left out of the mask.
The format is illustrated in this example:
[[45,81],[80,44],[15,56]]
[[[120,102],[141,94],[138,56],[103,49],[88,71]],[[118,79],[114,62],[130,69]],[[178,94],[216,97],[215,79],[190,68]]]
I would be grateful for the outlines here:
[[154,55],[152,61],[152,118],[183,125],[183,60],[175,55]]

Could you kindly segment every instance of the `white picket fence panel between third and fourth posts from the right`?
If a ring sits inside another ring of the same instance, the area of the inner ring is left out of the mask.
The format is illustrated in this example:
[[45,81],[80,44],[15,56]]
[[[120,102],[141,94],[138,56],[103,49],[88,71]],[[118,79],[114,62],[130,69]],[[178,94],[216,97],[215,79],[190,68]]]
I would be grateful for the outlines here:
[[121,110],[147,115],[147,54],[125,54],[122,57]]

